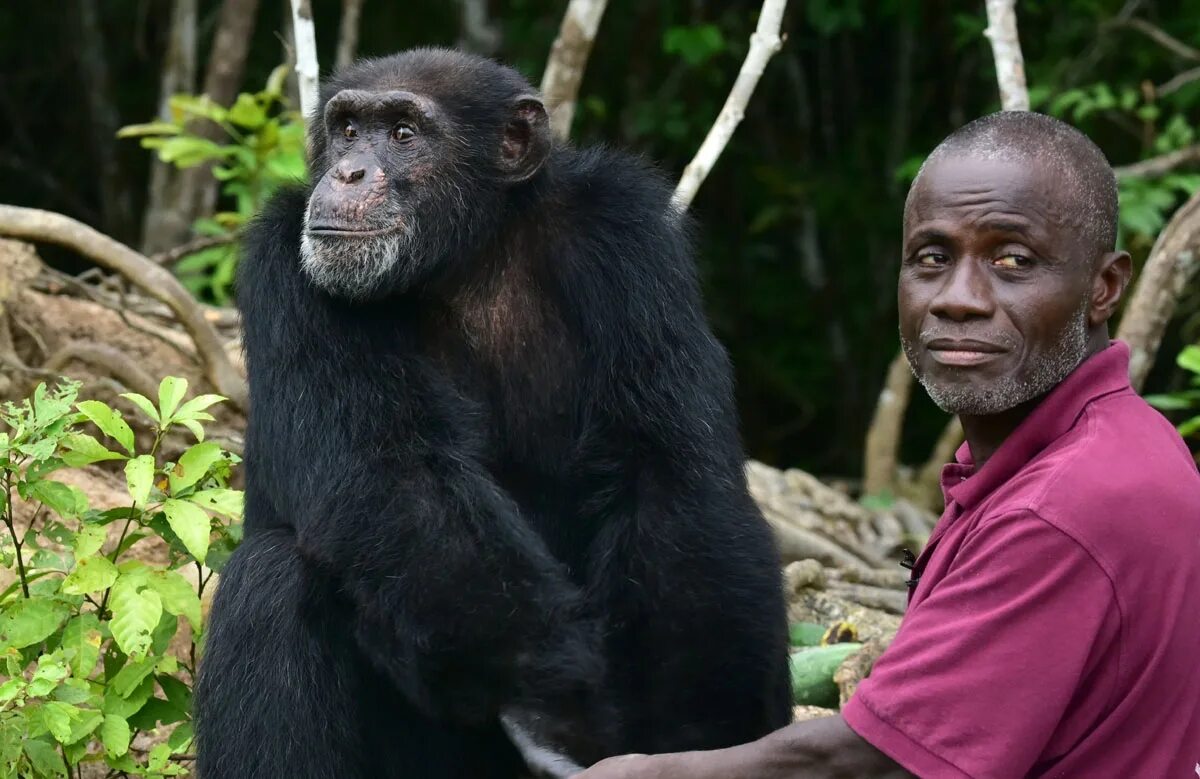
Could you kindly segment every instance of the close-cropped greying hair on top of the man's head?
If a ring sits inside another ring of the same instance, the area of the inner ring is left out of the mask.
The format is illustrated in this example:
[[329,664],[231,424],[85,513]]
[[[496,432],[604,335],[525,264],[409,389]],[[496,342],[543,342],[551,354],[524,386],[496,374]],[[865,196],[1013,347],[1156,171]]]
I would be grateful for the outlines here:
[[1061,182],[1056,211],[1063,227],[1075,232],[1094,256],[1116,247],[1116,175],[1099,146],[1070,125],[1027,110],[1004,110],[964,125],[920,167],[908,191],[906,214],[926,169],[956,157],[1027,162],[1052,172]]

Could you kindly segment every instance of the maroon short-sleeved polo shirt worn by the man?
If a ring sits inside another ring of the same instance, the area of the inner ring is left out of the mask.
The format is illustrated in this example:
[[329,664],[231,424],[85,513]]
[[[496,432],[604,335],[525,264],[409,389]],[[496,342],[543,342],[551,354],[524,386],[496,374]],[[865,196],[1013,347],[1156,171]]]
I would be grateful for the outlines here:
[[842,709],[920,777],[1200,773],[1200,474],[1114,342],[946,513],[895,641]]

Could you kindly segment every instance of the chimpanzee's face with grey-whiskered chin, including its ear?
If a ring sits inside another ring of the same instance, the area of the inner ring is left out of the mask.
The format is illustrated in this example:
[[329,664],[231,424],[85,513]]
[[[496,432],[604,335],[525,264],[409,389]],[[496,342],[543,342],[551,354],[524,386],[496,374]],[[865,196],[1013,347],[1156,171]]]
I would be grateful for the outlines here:
[[313,161],[314,175],[323,173],[301,238],[302,268],[318,287],[383,298],[478,244],[504,191],[545,160],[548,125],[541,102],[528,96],[491,112],[504,118],[494,127],[462,115],[398,89],[343,89],[326,102]]

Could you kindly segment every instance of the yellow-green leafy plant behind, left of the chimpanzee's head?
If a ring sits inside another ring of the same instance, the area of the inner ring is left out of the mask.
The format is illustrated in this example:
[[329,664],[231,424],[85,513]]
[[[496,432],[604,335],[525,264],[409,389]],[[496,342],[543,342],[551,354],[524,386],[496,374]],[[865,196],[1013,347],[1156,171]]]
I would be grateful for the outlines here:
[[[170,121],[130,125],[120,138],[140,138],[158,158],[178,168],[215,163],[212,175],[234,210],[220,211],[196,223],[200,235],[234,238],[281,184],[305,176],[305,136],[300,114],[288,109],[283,95],[287,68],[275,68],[259,92],[238,95],[226,108],[206,95],[170,98]],[[217,143],[197,134],[197,121],[214,122],[228,138]],[[238,263],[236,241],[194,252],[175,265],[193,294],[218,304],[229,301]]]

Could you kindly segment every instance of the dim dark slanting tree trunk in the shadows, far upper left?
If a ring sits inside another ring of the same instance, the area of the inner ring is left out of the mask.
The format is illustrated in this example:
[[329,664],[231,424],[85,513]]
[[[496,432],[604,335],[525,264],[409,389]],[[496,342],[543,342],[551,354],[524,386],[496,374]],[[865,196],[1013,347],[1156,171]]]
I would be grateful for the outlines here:
[[76,37],[79,82],[88,106],[86,122],[91,131],[92,155],[100,173],[102,228],[122,240],[133,238],[133,202],[116,154],[116,131],[121,119],[116,113],[113,84],[104,54],[104,31],[100,7],[92,0],[77,0],[72,26]]

